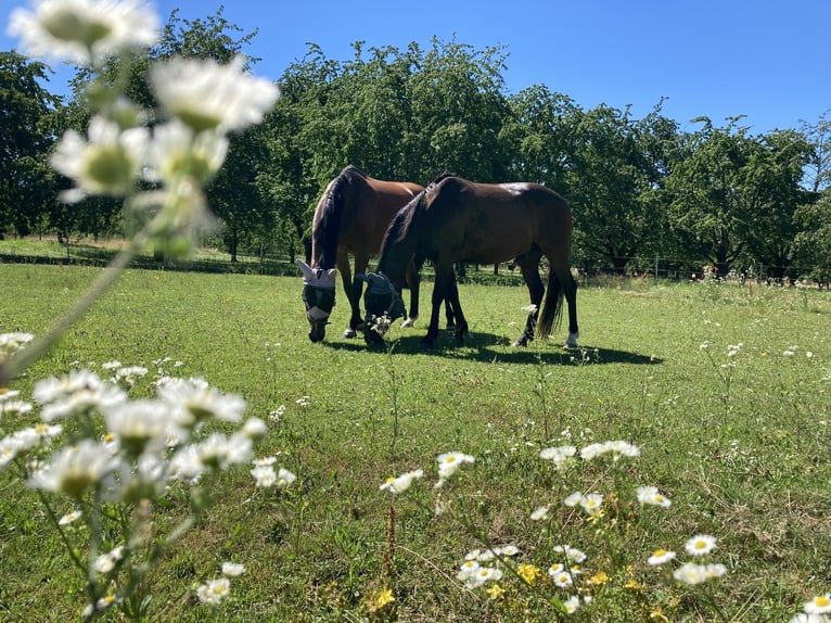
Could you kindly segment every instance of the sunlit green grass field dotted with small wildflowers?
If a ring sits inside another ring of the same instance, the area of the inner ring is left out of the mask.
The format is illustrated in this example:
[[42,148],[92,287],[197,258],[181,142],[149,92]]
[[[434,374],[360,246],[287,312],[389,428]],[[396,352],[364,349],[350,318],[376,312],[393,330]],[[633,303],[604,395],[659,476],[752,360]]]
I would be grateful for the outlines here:
[[[0,333],[44,332],[98,272],[0,266]],[[442,335],[421,353],[426,308],[414,330],[396,327],[386,348],[369,349],[340,338],[340,290],[327,341],[309,343],[301,288],[299,278],[128,270],[13,383],[28,396],[38,379],[79,366],[104,374],[117,359],[151,370],[137,395],[156,373],[204,377],[269,422],[257,455],[278,456],[297,481],[269,494],[247,469],[223,475],[209,514],[149,577],[148,619],[774,622],[831,590],[828,292],[583,288],[581,347],[564,351],[564,327],[527,349],[510,346],[525,320],[523,289],[461,284],[472,335],[463,346]],[[613,440],[640,456],[577,458],[564,472],[539,456]],[[447,452],[475,462],[434,490]],[[379,491],[416,469],[424,476],[408,491]],[[672,506],[639,505],[638,485]],[[0,487],[0,620],[77,620],[82,577],[37,497],[11,471]],[[576,491],[602,494],[601,512],[565,506]],[[159,527],[186,506],[170,492],[153,509]],[[668,570],[691,560],[685,543],[698,534],[717,548],[693,561],[726,574],[674,582]],[[506,545],[519,554],[501,561],[499,589],[457,578],[469,551]],[[566,588],[547,573],[562,561],[559,545],[586,554]],[[677,559],[648,564],[662,548]],[[227,560],[246,572],[214,612],[195,586]],[[558,603],[577,594],[592,600],[562,613]]]

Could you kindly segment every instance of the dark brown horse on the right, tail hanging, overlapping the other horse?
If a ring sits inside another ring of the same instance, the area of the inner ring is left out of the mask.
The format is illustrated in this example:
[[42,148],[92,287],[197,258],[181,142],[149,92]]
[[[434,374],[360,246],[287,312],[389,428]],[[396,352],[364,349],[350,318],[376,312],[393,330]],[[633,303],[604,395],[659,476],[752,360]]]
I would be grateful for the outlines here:
[[[456,338],[462,340],[468,322],[459,306],[453,264],[497,264],[514,259],[528,287],[534,312],[514,345],[525,346],[550,334],[562,312],[563,295],[568,304],[568,340],[577,346],[577,283],[568,256],[572,243],[572,213],[568,203],[554,191],[536,183],[475,183],[459,177],[444,177],[398,212],[381,246],[378,277],[387,280],[400,296],[406,268],[413,255],[423,255],[435,265],[433,312],[422,346],[432,347],[438,336],[438,313],[443,298],[456,313]],[[548,289],[539,276],[545,256],[550,265]],[[540,310],[542,296],[545,305]],[[375,303],[369,316],[383,314]]]

